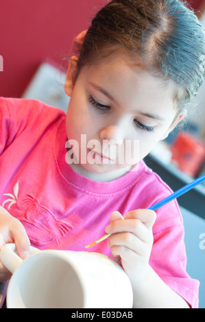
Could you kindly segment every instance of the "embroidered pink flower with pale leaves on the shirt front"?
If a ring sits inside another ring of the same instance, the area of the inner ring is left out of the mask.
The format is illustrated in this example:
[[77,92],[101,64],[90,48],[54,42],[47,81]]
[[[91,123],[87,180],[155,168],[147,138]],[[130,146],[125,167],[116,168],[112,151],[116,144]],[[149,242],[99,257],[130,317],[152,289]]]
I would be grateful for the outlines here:
[[67,219],[59,218],[58,212],[44,206],[32,193],[27,193],[21,198],[19,181],[14,185],[13,194],[3,195],[8,199],[3,201],[2,206],[21,221],[29,234],[32,246],[48,247],[51,243],[59,246],[63,237],[73,230],[73,225]]

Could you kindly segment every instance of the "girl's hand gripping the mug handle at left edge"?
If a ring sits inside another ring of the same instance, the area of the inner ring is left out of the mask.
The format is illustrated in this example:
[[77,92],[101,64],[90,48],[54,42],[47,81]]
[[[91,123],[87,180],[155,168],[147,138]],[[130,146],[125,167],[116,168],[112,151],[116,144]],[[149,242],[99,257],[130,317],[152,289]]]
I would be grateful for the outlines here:
[[[0,251],[8,243],[16,245],[16,252],[23,260],[29,256],[30,242],[21,221],[0,206]],[[0,282],[9,280],[11,275],[0,262]]]

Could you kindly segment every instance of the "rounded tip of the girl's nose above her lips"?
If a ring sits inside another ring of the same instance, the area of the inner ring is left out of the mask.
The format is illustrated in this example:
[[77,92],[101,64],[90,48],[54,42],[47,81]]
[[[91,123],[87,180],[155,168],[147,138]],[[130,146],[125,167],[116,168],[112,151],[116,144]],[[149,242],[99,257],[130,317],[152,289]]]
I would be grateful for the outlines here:
[[99,137],[102,140],[107,140],[109,145],[122,145],[123,144],[123,132],[120,127],[116,125],[109,125],[101,130]]

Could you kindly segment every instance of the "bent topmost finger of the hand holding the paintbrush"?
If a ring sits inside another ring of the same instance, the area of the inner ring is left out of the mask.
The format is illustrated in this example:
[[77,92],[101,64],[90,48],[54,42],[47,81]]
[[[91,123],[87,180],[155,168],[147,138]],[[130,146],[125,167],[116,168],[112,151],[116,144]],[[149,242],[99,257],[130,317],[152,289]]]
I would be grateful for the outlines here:
[[149,209],[132,210],[125,214],[124,219],[138,219],[149,230],[152,230],[152,227],[156,221],[156,212]]

